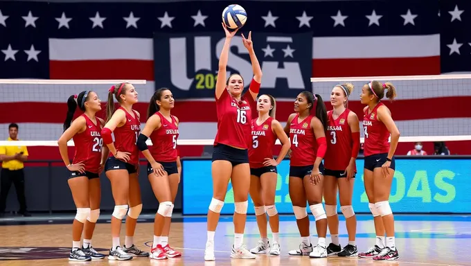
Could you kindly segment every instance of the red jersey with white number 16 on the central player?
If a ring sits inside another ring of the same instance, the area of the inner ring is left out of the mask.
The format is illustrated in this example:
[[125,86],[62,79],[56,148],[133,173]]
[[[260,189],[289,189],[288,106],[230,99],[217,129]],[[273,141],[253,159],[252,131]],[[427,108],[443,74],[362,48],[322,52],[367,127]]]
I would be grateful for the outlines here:
[[[252,80],[250,87],[253,86],[260,87],[260,83]],[[214,145],[220,143],[240,149],[249,148],[254,103],[250,91],[246,91],[238,101],[224,89],[220,98],[216,99],[217,133]]]

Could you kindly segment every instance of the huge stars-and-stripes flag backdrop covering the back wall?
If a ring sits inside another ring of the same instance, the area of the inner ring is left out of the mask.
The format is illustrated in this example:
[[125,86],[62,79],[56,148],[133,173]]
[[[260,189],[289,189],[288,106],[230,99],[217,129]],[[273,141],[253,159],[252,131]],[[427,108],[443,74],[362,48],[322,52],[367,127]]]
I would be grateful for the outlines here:
[[[140,103],[135,108],[143,114],[141,120],[145,122],[148,100],[155,88],[172,86],[164,82],[168,77],[164,80],[155,76],[157,67],[169,67],[154,55],[156,42],[160,41],[159,34],[193,36],[198,33],[204,36],[208,33],[209,36],[217,31],[222,33],[221,13],[231,3],[2,1],[0,78],[148,80],[146,85],[136,85]],[[302,50],[299,44],[285,43],[275,47],[268,42],[255,42],[262,67],[275,62],[278,70],[285,69],[287,62],[301,63],[307,57],[312,59],[308,72],[312,77],[436,75],[471,70],[470,1],[238,3],[248,14],[247,24],[241,30],[246,36],[249,30],[254,37],[258,33],[274,37],[277,34],[312,34],[312,44],[309,44],[312,45],[312,53],[299,54]],[[236,42],[240,39],[233,40],[231,52],[234,55],[229,62],[238,55],[241,60],[247,60]],[[217,47],[209,45],[211,56],[219,56]],[[192,55],[202,52],[190,51],[189,48],[186,51]],[[190,56],[187,56],[188,65],[175,71],[195,79],[197,61],[188,58]],[[305,68],[300,71],[304,73]],[[208,70],[208,73],[215,74],[216,69]],[[247,69],[245,72],[241,69],[229,71],[245,73]],[[296,89],[289,87],[288,81],[296,73],[293,70],[284,74],[287,77],[279,74],[276,79],[285,81],[263,87],[264,93],[280,98],[277,107],[280,121],[285,121],[292,112],[292,99],[297,94]],[[270,75],[271,72],[264,73],[263,86],[270,82]],[[303,74],[301,76],[306,78]],[[248,80],[251,77],[244,78]],[[62,133],[65,102],[69,95],[78,94],[83,89],[94,89],[105,101],[108,89],[99,85],[0,86],[0,136],[6,139],[8,123],[15,122],[19,123],[20,136],[24,140],[57,139]],[[192,86],[196,86],[195,82]],[[211,87],[204,87],[206,89],[211,90]],[[314,92],[328,99],[330,89],[314,88]],[[438,92],[440,89],[435,88],[436,93],[430,94],[423,86],[398,87],[398,101],[389,107],[400,125],[402,136],[434,135],[437,133],[431,129],[436,127],[441,127],[443,134],[466,133],[466,129],[471,127],[471,114],[470,109],[464,107],[470,103],[471,90],[452,85],[443,89],[445,92]],[[359,90],[357,87],[350,97],[350,107],[357,114],[362,110],[357,98]],[[404,94],[404,91],[408,93]],[[179,96],[179,91],[175,91],[175,96]],[[188,96],[191,98],[177,97],[177,105],[172,112],[181,121],[182,139],[211,139],[215,135],[215,103],[212,97],[206,96],[207,91],[200,96],[197,93]],[[432,111],[431,107],[438,108]],[[460,126],[459,133],[452,130],[452,125]]]

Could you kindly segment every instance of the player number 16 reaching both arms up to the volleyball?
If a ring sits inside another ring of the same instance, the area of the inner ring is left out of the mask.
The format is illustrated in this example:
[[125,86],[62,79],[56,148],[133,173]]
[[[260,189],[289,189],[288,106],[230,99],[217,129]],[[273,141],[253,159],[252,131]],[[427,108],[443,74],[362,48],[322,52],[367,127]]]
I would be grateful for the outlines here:
[[[251,143],[251,105],[254,104],[260,90],[262,69],[258,63],[251,40],[242,35],[242,42],[249,51],[254,78],[249,91],[242,95],[244,80],[239,74],[232,74],[226,81],[226,65],[229,57],[229,45],[237,30],[229,32],[222,24],[226,33],[226,40],[222,47],[217,72],[215,99],[217,110],[217,134],[214,140],[213,163],[213,199],[208,210],[208,240],[204,251],[204,260],[214,258],[214,235],[219,221],[220,211],[224,205],[229,179],[234,192],[234,245],[231,258],[255,258],[247,247],[242,245],[244,238],[245,221],[247,220],[247,206],[249,202],[249,143]],[[225,83],[225,84],[224,84]]]

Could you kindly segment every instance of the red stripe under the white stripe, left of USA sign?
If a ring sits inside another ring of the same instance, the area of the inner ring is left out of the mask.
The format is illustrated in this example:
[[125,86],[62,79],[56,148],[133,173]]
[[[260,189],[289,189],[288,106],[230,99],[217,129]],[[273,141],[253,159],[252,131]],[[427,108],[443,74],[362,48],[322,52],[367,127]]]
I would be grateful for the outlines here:
[[154,80],[152,60],[81,60],[49,62],[51,79]]

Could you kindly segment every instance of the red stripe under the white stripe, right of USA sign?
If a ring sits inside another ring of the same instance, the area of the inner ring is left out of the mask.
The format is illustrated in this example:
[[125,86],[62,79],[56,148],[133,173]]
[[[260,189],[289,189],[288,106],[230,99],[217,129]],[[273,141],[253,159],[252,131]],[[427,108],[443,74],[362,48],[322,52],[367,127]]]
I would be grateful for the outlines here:
[[312,60],[312,77],[439,75],[440,56]]

